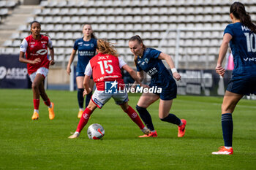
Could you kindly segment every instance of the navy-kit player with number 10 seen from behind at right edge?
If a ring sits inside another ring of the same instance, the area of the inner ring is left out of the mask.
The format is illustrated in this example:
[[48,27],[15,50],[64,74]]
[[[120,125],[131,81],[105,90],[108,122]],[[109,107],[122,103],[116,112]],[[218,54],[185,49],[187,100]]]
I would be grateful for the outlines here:
[[232,113],[238,101],[250,93],[256,94],[256,26],[244,8],[244,4],[234,2],[230,7],[232,23],[224,31],[219,50],[216,72],[224,76],[222,61],[227,53],[228,43],[233,53],[235,68],[222,102],[222,134],[225,145],[214,155],[232,155],[233,120]]

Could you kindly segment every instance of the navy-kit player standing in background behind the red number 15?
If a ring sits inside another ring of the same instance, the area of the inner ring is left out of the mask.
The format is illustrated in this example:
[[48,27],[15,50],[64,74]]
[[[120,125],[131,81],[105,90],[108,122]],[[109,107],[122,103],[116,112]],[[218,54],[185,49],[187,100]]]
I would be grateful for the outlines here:
[[[78,85],[78,105],[79,112],[78,118],[83,114],[83,79],[84,79],[84,70],[86,69],[87,64],[90,59],[95,55],[97,47],[97,39],[94,36],[94,32],[91,29],[91,25],[85,24],[83,26],[83,37],[75,41],[72,53],[69,58],[69,63],[67,64],[67,74],[70,74],[70,66],[75,58],[75,53],[78,50],[78,65],[76,68],[76,82]],[[90,88],[94,87],[94,81],[91,79]],[[92,92],[86,95],[86,107],[88,106],[91,99]]]

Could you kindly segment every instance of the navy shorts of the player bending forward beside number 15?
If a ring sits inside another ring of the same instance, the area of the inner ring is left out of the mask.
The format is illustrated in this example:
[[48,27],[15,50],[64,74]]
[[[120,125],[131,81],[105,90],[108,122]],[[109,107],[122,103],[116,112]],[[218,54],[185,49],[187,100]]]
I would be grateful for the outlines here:
[[177,85],[175,80],[170,80],[169,82],[163,82],[162,84],[154,84],[151,83],[149,87],[157,86],[158,88],[162,88],[162,93],[154,93],[159,95],[160,99],[164,101],[173,100],[173,98],[177,97]]

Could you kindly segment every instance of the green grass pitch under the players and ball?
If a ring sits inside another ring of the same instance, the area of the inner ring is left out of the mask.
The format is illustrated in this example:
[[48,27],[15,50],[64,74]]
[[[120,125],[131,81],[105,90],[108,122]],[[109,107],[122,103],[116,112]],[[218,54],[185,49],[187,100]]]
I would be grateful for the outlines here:
[[[111,99],[96,109],[78,139],[67,139],[78,125],[76,92],[47,90],[56,117],[40,101],[33,113],[31,90],[0,90],[0,169],[256,169],[256,101],[241,100],[233,114],[234,155],[211,155],[223,145],[222,98],[178,96],[171,112],[187,119],[178,139],[176,125],[161,122],[158,102],[148,108],[159,137],[142,134]],[[139,96],[129,96],[135,108]],[[87,128],[99,123],[103,140],[90,140]]]

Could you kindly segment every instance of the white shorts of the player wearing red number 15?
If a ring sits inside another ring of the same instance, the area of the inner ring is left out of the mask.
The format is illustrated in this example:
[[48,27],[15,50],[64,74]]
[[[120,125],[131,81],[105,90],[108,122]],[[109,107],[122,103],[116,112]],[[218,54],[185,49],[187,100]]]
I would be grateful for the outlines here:
[[105,103],[109,101],[110,98],[113,98],[116,101],[116,104],[122,105],[125,102],[129,101],[127,91],[120,93],[117,91],[117,93],[111,94],[111,93],[105,93],[105,91],[99,91],[95,90],[94,94],[91,96],[91,101],[94,102],[94,104],[101,109]]

